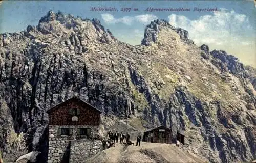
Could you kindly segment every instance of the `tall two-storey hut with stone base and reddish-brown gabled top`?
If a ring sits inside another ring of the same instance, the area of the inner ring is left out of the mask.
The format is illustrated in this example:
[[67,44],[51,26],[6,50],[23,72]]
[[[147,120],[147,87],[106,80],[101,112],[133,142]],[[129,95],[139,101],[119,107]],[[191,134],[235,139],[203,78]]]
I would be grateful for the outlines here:
[[48,163],[81,162],[102,150],[101,111],[77,97],[50,110]]

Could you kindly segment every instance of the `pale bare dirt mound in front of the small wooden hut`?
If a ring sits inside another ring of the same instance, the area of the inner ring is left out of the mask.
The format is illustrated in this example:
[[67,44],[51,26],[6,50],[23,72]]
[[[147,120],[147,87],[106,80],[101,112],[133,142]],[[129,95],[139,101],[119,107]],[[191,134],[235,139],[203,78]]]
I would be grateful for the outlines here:
[[132,162],[207,162],[200,157],[182,151],[179,147],[170,144],[145,143],[140,147],[128,146],[123,151],[124,145],[117,144],[115,147],[101,151],[86,162],[106,162],[106,163],[132,163]]

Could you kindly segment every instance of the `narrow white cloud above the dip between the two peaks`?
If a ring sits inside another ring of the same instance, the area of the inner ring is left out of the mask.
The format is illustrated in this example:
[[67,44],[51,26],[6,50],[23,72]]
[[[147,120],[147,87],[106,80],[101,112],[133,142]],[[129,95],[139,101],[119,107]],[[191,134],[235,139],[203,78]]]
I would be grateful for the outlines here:
[[146,25],[151,21],[158,19],[157,16],[151,15],[151,14],[137,15],[137,16],[124,16],[122,18],[115,18],[111,14],[101,14],[101,17],[107,24],[123,23],[126,25],[132,25],[135,22]]

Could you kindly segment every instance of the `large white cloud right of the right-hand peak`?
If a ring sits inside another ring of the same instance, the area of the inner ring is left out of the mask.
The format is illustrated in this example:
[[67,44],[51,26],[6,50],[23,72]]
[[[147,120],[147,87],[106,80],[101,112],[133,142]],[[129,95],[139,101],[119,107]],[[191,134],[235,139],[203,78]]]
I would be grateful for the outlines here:
[[185,16],[172,14],[168,16],[169,23],[186,29],[189,38],[197,45],[239,42],[247,45],[245,33],[253,33],[249,19],[244,14],[238,14],[233,10],[220,9],[213,15],[204,15],[195,20],[190,20]]

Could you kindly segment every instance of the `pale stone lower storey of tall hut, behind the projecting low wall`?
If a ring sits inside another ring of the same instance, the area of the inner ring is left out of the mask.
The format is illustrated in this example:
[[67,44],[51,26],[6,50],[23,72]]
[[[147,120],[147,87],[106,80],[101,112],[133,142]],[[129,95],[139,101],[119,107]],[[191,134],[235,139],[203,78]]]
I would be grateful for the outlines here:
[[[58,128],[71,128],[70,135],[58,135]],[[72,140],[79,139],[78,128],[91,128],[92,135],[99,133],[99,126],[53,126],[49,125],[49,150],[48,163],[57,163],[62,159],[69,159],[70,143]],[[91,141],[91,140],[90,140]]]

